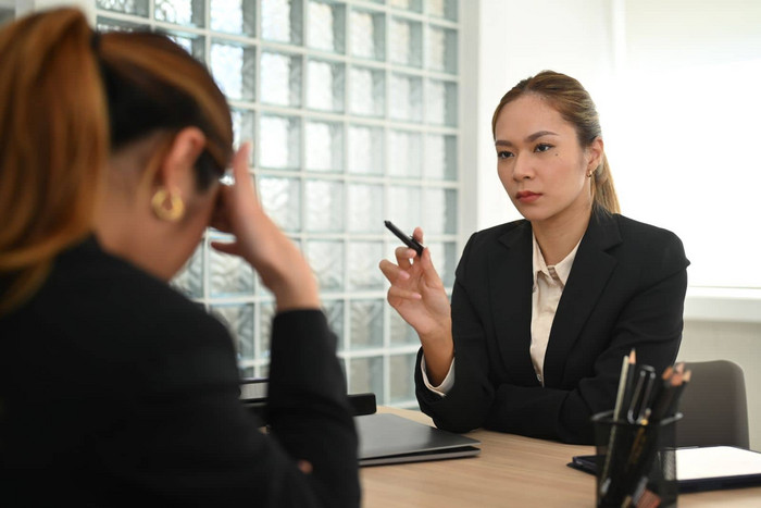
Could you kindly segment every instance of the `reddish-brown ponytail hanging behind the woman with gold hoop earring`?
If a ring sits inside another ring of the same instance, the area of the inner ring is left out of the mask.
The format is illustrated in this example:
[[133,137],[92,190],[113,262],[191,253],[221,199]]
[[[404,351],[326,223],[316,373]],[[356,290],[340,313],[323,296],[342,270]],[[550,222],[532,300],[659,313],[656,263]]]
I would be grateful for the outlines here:
[[91,38],[76,9],[0,30],[0,313],[92,230],[109,147]]

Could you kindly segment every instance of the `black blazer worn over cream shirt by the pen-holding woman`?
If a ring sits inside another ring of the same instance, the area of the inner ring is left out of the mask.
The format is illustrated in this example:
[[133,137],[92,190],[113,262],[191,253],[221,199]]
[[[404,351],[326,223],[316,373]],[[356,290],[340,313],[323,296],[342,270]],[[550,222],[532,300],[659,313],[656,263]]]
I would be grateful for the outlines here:
[[590,417],[613,409],[623,357],[658,372],[682,339],[689,261],[671,232],[595,212],[552,322],[545,386],[529,356],[532,227],[474,234],[452,292],[454,386],[441,398],[415,372],[421,409],[437,426],[478,426],[569,443],[594,442]]

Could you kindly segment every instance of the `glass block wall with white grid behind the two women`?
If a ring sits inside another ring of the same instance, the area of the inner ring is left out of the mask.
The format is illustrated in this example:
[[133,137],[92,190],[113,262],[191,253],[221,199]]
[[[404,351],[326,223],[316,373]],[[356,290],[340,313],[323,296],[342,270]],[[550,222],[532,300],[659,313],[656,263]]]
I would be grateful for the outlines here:
[[[415,407],[419,340],[377,268],[421,225],[445,283],[459,253],[457,0],[96,0],[101,30],[167,32],[204,61],[253,140],[266,211],[300,246],[339,337],[349,393]],[[266,376],[272,296],[210,230],[174,284],[224,320]]]

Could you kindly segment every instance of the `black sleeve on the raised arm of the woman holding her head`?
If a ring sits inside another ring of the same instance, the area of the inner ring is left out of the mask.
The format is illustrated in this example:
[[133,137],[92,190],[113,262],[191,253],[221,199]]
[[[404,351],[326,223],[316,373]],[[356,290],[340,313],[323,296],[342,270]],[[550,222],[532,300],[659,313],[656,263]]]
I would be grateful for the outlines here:
[[269,417],[288,455],[313,466],[308,480],[321,506],[352,507],[360,504],[358,438],[335,350],[322,312],[276,317]]

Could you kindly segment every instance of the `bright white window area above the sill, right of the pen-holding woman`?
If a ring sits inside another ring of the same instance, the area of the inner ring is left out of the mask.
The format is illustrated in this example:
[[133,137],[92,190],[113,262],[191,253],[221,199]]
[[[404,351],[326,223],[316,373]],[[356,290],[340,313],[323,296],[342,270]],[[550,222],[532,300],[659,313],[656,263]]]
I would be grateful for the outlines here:
[[726,261],[761,256],[761,159],[747,141],[761,138],[761,2],[621,4],[603,128],[622,207],[679,235],[690,285],[761,287],[761,271]]

